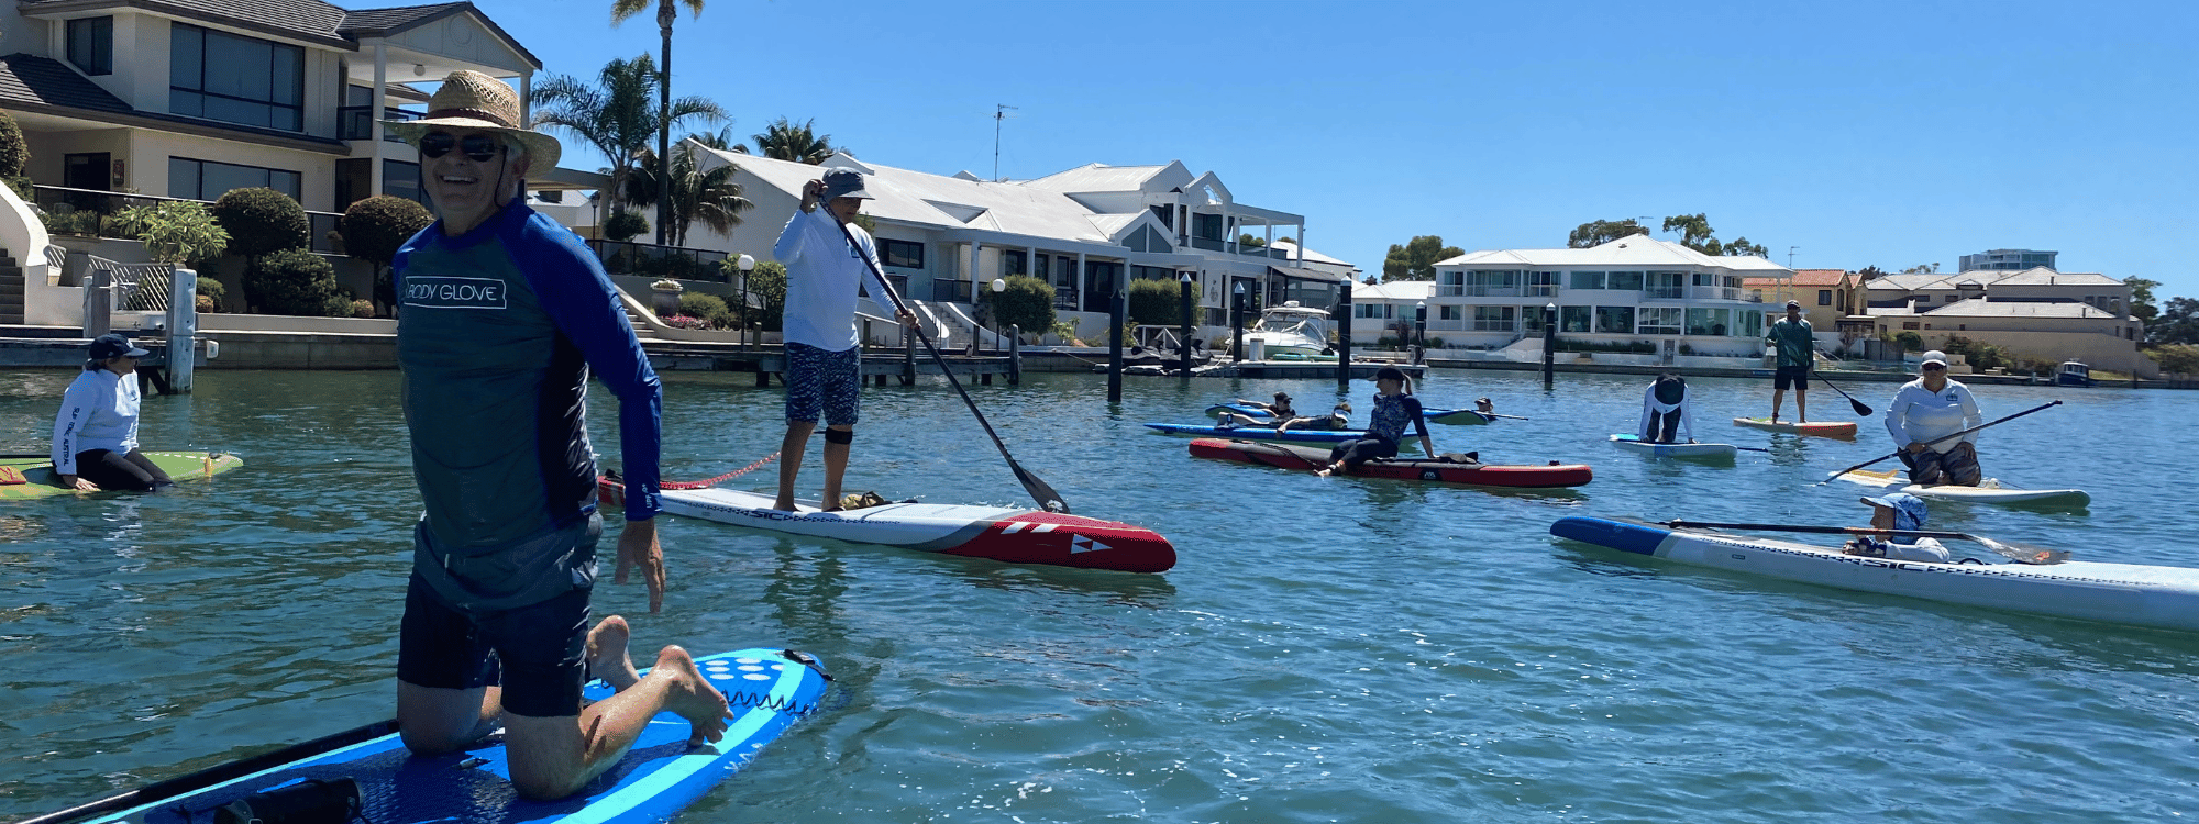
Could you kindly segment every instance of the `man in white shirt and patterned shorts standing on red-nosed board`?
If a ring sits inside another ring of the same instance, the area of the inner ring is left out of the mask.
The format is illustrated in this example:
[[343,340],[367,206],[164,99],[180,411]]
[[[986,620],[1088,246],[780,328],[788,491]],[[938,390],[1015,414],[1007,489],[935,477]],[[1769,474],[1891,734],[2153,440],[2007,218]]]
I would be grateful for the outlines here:
[[[778,442],[778,499],[774,510],[794,512],[794,477],[803,470],[809,433],[825,415],[825,510],[840,510],[840,479],[847,477],[849,444],[862,407],[862,338],[855,330],[855,292],[866,272],[882,272],[877,244],[862,226],[849,224],[871,193],[862,174],[825,169],[825,180],[803,185],[803,209],[778,233],[772,257],[787,266],[787,437]],[[818,209],[825,204],[825,209]],[[827,213],[829,211],[829,213]],[[847,233],[840,233],[847,224]],[[849,242],[853,237],[853,242]],[[880,294],[884,297],[884,294]],[[917,323],[899,312],[902,323]]]

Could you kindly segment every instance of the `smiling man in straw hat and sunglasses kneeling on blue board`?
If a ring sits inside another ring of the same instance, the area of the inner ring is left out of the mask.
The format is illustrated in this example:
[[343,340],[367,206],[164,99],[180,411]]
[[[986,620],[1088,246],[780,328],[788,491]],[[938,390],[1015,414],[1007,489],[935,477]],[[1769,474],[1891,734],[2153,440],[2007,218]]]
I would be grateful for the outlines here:
[[[519,94],[451,73],[420,121],[387,121],[420,149],[440,220],[391,261],[405,424],[424,512],[398,631],[398,727],[420,756],[473,745],[499,725],[512,789],[552,800],[625,756],[658,712],[726,734],[726,697],[677,646],[638,679],[627,622],[589,620],[596,582],[596,459],[587,376],[618,396],[627,527],[618,574],[640,567],[649,611],[664,604],[658,545],[662,391],[618,288],[572,231],[521,202],[528,169],[552,169],[556,138],[519,127]],[[581,708],[587,672],[618,694]]]

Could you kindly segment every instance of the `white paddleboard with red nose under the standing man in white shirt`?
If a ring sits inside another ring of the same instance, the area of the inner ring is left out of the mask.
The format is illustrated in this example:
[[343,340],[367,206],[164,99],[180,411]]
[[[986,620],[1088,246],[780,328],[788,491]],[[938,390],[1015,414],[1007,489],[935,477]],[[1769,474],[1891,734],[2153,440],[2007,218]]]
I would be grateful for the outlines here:
[[[614,479],[603,479],[600,492],[605,505],[625,503],[625,488]],[[666,483],[660,494],[671,514],[811,538],[1082,569],[1165,571],[1176,565],[1176,547],[1159,532],[1080,514],[961,503],[822,512],[814,501],[785,512],[772,510],[770,494],[677,483]]]

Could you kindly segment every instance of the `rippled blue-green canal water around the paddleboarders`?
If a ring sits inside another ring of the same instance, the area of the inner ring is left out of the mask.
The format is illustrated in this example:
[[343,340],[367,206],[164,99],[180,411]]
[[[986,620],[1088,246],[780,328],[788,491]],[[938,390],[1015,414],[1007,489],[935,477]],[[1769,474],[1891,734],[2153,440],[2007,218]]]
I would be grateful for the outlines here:
[[[0,450],[44,450],[68,376],[0,374]],[[666,376],[666,475],[776,448],[776,389]],[[1080,514],[1150,525],[1163,576],[1007,567],[671,519],[671,595],[603,587],[636,644],[796,646],[825,712],[684,822],[2140,822],[2199,813],[2199,637],[1671,567],[1548,536],[1566,514],[1863,523],[1805,488],[1889,450],[1726,424],[1768,387],[1698,380],[1737,466],[1623,455],[1638,378],[1438,374],[1528,422],[1440,450],[1588,461],[1574,494],[1489,494],[1196,461],[1139,422],[1333,382],[1097,376],[972,389]],[[1893,385],[1863,385],[1885,407]],[[1355,387],[1363,400],[1372,387]],[[598,391],[596,444],[616,450]],[[1814,391],[1821,420],[1849,417]],[[1979,387],[1988,475],[2089,510],[1937,505],[1935,525],[2199,565],[2199,393]],[[1792,409],[1792,407],[1790,407]],[[418,512],[396,374],[200,374],[154,446],[246,466],[178,494],[0,510],[0,817],[389,716]],[[811,446],[816,448],[816,446]],[[1029,503],[943,387],[866,389],[851,488]],[[811,457],[809,466],[816,466]],[[752,475],[756,488],[772,477]],[[741,479],[737,483],[745,483]],[[809,486],[814,492],[814,486]]]

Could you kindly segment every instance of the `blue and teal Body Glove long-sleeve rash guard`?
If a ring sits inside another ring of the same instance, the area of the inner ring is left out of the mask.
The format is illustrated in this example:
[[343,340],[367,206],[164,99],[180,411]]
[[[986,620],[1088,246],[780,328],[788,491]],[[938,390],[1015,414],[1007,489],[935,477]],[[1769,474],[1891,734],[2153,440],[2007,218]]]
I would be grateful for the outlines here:
[[618,396],[627,521],[658,512],[662,387],[581,237],[515,200],[394,261],[413,479],[435,545],[484,552],[596,512],[589,369]]

